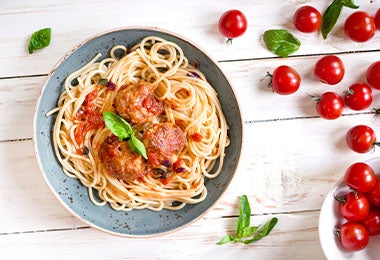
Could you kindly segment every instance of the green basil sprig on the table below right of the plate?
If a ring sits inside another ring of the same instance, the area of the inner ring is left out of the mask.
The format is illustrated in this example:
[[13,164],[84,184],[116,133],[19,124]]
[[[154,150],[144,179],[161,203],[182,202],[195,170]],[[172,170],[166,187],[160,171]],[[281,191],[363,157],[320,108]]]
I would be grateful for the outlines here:
[[230,242],[241,242],[244,244],[251,244],[257,240],[262,239],[269,235],[274,226],[277,224],[277,218],[271,218],[265,224],[260,226],[250,226],[251,207],[246,195],[240,198],[239,203],[239,218],[236,222],[236,235],[224,236],[217,245],[223,245]]

